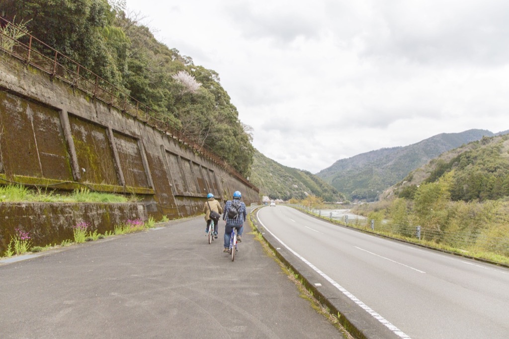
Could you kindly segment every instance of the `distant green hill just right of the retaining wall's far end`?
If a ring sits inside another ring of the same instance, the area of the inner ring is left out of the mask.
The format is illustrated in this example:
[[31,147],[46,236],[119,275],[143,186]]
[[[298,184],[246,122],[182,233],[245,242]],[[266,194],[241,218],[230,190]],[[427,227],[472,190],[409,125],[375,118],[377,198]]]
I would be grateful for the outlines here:
[[270,199],[305,199],[308,194],[326,202],[344,201],[345,196],[314,174],[287,167],[254,150],[250,181]]

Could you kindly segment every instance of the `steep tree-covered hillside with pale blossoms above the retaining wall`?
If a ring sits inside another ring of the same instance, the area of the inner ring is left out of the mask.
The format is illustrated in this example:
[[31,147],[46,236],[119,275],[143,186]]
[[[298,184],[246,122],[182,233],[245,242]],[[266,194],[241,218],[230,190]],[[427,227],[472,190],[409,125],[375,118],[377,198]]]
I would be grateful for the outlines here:
[[0,2],[4,18],[148,105],[249,176],[252,137],[219,75],[158,42],[128,12],[122,1]]

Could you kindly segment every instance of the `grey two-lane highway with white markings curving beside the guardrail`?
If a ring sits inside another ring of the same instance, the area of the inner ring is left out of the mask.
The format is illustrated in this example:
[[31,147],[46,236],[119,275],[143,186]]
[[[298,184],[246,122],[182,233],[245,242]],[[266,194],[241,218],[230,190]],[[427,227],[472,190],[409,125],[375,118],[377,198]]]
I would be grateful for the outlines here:
[[509,270],[364,234],[285,206],[266,230],[412,338],[509,337]]

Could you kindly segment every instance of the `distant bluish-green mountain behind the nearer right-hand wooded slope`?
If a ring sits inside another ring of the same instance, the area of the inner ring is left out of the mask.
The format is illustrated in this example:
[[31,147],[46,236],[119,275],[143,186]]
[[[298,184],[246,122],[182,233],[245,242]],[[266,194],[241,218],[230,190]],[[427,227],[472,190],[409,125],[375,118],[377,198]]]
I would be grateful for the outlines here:
[[405,146],[380,149],[336,161],[317,174],[351,200],[375,201],[385,189],[443,152],[493,136],[487,130],[442,133]]

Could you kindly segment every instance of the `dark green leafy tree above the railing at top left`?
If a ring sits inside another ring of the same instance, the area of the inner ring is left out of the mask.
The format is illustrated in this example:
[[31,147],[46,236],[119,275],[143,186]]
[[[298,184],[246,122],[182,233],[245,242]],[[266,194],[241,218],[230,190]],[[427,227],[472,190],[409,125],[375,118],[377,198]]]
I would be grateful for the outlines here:
[[7,19],[26,22],[36,38],[122,88],[117,51],[103,35],[114,17],[107,0],[5,0],[4,8]]

